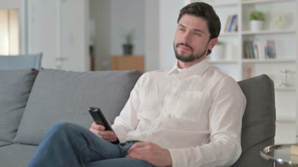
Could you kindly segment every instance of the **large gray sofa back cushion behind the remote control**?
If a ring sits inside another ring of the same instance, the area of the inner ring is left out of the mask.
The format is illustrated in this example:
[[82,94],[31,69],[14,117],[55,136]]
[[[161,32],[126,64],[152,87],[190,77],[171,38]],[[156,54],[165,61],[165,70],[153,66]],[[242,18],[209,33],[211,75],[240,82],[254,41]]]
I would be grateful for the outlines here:
[[25,108],[16,142],[38,145],[50,127],[66,121],[90,127],[87,108],[100,107],[113,123],[141,76],[133,71],[71,72],[41,69]]

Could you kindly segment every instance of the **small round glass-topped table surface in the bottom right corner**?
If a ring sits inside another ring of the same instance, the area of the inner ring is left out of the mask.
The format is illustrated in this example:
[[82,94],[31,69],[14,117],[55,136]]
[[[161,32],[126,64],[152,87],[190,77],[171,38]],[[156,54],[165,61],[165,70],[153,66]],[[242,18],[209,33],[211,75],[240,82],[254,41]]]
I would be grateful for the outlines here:
[[298,155],[291,154],[291,146],[297,146],[297,144],[267,146],[261,151],[261,156],[266,160],[273,160],[275,164],[298,167]]

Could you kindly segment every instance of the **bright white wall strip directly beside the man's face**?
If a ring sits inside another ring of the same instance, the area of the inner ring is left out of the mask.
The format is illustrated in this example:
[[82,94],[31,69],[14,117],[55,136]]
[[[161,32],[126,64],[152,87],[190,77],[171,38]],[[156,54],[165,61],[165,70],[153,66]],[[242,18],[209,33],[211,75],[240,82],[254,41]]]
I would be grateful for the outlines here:
[[174,55],[174,34],[177,27],[179,10],[184,6],[183,0],[159,0],[159,67],[172,67],[176,62]]

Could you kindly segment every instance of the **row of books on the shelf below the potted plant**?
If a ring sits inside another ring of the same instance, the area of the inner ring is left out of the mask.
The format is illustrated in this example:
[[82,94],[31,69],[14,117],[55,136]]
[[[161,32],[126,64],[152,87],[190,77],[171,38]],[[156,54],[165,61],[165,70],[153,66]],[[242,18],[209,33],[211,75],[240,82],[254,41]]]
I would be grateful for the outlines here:
[[276,58],[275,41],[254,39],[244,42],[245,59],[274,59]]

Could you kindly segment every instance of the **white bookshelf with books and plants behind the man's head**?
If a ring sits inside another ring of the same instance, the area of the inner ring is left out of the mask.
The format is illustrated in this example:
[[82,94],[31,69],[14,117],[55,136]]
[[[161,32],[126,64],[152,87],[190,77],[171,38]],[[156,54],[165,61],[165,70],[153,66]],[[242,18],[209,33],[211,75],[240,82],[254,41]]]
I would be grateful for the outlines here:
[[[219,41],[232,45],[231,53],[223,53],[228,59],[212,60],[212,66],[218,67],[223,72],[232,76],[236,81],[246,79],[247,76],[267,74],[275,86],[276,107],[276,135],[281,135],[280,130],[289,130],[298,134],[298,0],[185,0],[186,3],[203,1],[213,6],[220,17],[222,32]],[[285,10],[286,9],[286,10]],[[250,31],[249,14],[253,10],[265,13],[263,30]],[[286,28],[277,28],[274,21],[280,13],[292,14],[292,24]],[[228,15],[237,14],[237,32],[224,32]],[[276,58],[274,59],[245,59],[244,42],[247,40],[274,40]],[[212,55],[210,55],[212,56]],[[231,59],[232,58],[232,59]],[[291,72],[288,81],[289,87],[281,87],[281,69]],[[251,75],[248,75],[248,71]],[[285,126],[284,124],[287,124]],[[295,123],[296,122],[296,123]],[[291,124],[291,125],[290,125]],[[283,129],[291,127],[292,129]],[[294,135],[295,136],[295,135]],[[283,137],[277,136],[279,142]]]

